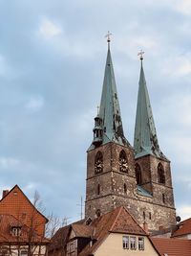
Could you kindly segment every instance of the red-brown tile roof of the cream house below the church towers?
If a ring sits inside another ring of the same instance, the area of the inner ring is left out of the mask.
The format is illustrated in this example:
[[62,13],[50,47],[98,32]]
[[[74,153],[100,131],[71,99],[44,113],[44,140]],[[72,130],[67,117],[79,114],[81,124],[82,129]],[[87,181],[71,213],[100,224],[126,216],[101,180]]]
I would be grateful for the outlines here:
[[72,229],[76,237],[92,238],[95,241],[92,247],[88,244],[78,256],[92,255],[111,232],[147,236],[146,232],[138,225],[138,222],[134,220],[128,210],[124,207],[118,207],[114,211],[92,221],[89,225],[86,225],[85,221],[78,221],[60,228],[53,236],[50,251],[63,250],[68,243]]

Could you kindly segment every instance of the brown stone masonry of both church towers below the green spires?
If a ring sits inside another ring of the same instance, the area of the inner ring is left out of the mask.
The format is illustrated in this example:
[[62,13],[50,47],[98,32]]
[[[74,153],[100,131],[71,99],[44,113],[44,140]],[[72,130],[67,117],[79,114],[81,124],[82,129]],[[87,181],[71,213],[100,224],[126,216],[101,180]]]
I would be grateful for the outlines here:
[[[101,173],[96,174],[95,159],[98,151],[103,156],[103,168]],[[127,156],[127,173],[119,171],[120,151],[125,151]],[[137,184],[136,163],[141,172],[140,186]],[[165,180],[162,184],[159,183],[159,164],[164,171]],[[86,218],[95,219],[118,206],[126,206],[138,223],[141,225],[146,222],[150,230],[175,224],[176,211],[170,162],[152,155],[135,159],[132,148],[114,142],[88,151]]]

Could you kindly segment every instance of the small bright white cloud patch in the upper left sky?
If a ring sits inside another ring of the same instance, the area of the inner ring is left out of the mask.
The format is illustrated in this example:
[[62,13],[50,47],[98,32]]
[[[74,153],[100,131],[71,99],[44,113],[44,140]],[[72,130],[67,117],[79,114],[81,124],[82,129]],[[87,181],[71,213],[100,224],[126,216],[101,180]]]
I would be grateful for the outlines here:
[[47,17],[43,17],[38,32],[44,38],[49,39],[53,36],[61,35],[62,29],[58,24],[53,23],[52,20],[48,19]]

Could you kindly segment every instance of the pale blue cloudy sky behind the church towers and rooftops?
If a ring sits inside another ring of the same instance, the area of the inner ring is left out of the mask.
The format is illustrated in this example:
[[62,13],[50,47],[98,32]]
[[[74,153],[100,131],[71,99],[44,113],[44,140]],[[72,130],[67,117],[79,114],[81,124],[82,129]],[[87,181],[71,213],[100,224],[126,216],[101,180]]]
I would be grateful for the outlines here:
[[47,215],[80,218],[110,31],[126,138],[142,49],[177,215],[191,217],[190,28],[189,0],[0,0],[0,194],[18,184]]

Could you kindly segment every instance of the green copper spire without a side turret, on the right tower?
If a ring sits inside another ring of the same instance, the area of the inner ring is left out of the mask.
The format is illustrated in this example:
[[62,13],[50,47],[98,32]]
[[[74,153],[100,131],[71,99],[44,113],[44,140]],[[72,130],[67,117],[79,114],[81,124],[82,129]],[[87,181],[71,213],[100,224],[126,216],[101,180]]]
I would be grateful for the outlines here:
[[143,155],[152,154],[157,157],[166,159],[164,154],[159,149],[157,132],[142,66],[143,52],[141,51],[139,55],[141,63],[138,87],[136,128],[134,137],[134,149],[136,152],[136,158]]

